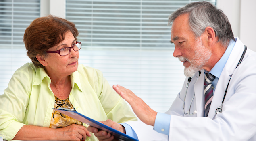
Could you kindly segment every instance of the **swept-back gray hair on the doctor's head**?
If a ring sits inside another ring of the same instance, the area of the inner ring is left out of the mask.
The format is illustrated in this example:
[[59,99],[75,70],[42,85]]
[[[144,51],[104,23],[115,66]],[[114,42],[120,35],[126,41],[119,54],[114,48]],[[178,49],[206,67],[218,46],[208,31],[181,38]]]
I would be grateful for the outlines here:
[[169,25],[180,15],[189,14],[189,26],[196,38],[200,37],[205,28],[210,26],[223,46],[227,47],[231,40],[235,40],[231,25],[222,10],[217,9],[210,2],[192,2],[177,9],[169,18]]

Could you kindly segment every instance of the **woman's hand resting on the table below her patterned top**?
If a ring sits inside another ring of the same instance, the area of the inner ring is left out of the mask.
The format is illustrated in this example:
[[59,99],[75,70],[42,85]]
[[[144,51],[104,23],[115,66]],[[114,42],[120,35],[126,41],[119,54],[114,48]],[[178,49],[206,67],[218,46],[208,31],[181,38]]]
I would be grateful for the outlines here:
[[55,135],[58,136],[57,140],[85,141],[86,135],[90,137],[91,133],[82,125],[72,124],[67,127],[57,128]]

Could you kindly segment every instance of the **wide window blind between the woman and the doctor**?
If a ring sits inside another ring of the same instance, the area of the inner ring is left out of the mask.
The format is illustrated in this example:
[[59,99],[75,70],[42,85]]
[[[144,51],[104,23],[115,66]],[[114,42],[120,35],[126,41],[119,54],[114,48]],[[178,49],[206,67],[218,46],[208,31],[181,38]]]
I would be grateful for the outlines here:
[[[208,0],[215,3],[215,0]],[[100,69],[152,109],[169,109],[181,90],[183,65],[173,57],[168,16],[191,0],[66,0],[79,30],[79,63]]]

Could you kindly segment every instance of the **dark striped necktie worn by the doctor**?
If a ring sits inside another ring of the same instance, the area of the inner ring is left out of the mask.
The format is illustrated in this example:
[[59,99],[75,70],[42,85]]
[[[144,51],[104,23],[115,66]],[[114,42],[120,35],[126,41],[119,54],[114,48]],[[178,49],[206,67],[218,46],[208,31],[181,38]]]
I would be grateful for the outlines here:
[[204,79],[204,117],[208,116],[210,105],[212,103],[212,97],[213,97],[213,86],[212,81],[215,79],[215,76],[212,74],[205,74]]

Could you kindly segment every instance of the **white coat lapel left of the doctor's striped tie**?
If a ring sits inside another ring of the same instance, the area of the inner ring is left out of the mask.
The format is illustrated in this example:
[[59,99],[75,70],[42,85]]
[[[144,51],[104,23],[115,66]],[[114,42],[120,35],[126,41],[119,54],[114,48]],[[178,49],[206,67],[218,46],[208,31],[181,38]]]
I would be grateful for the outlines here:
[[204,116],[204,71],[194,85],[197,117]]

